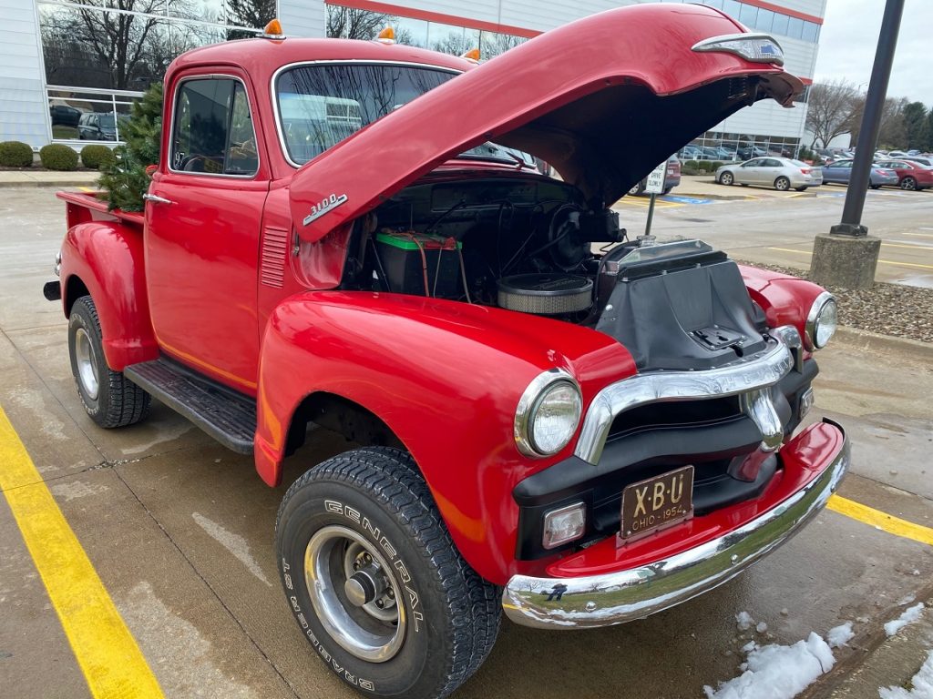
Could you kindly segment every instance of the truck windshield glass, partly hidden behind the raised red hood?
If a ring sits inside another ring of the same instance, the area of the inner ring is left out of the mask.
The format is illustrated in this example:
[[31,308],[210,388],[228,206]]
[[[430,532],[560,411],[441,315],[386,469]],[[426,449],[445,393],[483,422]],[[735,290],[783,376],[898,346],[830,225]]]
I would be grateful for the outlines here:
[[[303,165],[429,89],[459,75],[441,68],[384,63],[303,65],[275,85],[285,150]],[[534,166],[527,153],[485,143],[465,151],[479,158]]]

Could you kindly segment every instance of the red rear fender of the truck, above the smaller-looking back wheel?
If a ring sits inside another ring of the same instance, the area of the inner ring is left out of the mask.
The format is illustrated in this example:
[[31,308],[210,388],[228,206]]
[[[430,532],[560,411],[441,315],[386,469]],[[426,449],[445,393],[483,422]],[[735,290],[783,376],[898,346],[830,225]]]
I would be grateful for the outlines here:
[[62,245],[62,302],[70,315],[72,282],[80,280],[101,321],[104,356],[114,371],[159,357],[149,318],[146,267],[140,231],[112,221],[68,229]]

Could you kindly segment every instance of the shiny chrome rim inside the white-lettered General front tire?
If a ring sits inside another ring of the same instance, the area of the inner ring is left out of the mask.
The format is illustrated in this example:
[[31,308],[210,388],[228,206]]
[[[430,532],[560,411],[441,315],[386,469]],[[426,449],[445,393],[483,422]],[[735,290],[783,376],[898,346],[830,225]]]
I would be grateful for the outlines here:
[[314,533],[304,554],[304,579],[318,621],[344,651],[370,663],[395,657],[405,641],[405,606],[392,567],[353,529]]

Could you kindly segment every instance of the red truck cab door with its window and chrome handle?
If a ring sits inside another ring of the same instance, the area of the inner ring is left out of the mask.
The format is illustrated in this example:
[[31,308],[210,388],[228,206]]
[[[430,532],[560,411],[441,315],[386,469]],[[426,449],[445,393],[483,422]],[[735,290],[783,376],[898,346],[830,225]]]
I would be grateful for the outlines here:
[[168,153],[146,200],[146,280],[160,348],[255,394],[259,226],[269,191],[240,75],[175,83]]

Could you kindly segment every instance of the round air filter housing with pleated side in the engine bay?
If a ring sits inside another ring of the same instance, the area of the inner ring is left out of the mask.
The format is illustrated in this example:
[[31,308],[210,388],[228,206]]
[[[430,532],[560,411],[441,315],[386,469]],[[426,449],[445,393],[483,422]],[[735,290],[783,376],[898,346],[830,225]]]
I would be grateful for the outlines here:
[[499,306],[522,313],[557,316],[592,306],[592,280],[573,274],[517,274],[498,287]]

